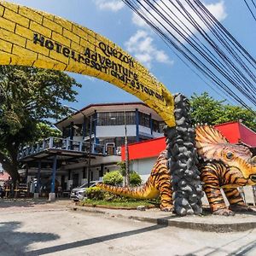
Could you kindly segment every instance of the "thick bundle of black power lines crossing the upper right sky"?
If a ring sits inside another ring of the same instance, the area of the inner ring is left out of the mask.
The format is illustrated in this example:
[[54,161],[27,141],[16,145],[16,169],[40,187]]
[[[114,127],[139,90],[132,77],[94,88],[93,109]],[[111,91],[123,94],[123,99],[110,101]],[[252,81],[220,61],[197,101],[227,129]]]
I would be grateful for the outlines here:
[[[247,97],[253,105],[256,105],[256,100],[253,97],[256,92],[254,86],[256,77],[251,70],[251,68],[256,68],[256,61],[199,0],[185,0],[187,6],[184,6],[179,0],[176,0],[176,3],[169,1],[169,4],[166,1],[155,0],[145,0],[143,2],[123,0],[123,2],[149,26],[153,27],[154,31],[164,39],[166,44],[175,49],[178,55],[183,55],[190,62],[190,65],[199,70],[204,77],[211,79],[215,84],[218,84],[218,87],[226,95],[231,96],[244,108],[252,111],[245,102],[241,101],[241,98],[236,95],[234,90],[231,90],[230,86],[219,78],[219,74],[243,96]],[[193,15],[191,15],[191,10]],[[184,21],[176,14],[179,14]],[[215,38],[214,40],[206,32],[205,28],[198,23],[198,19],[195,20],[195,17],[199,18],[202,24],[207,27],[213,38]],[[193,26],[207,44],[203,43],[201,38],[198,38],[185,22],[189,22],[189,26]],[[185,44],[188,45],[186,46]],[[211,49],[209,49],[209,45]],[[182,58],[180,59],[183,61]],[[215,72],[212,72],[209,67],[214,67]]]

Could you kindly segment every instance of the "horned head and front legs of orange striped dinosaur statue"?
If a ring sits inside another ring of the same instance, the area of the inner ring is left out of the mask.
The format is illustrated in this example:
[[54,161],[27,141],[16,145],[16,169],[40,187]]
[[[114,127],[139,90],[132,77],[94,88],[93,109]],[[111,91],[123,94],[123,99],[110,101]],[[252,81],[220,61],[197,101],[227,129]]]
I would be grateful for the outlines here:
[[[212,212],[233,215],[232,211],[249,210],[237,188],[256,184],[256,156],[252,157],[245,146],[230,144],[211,126],[197,126],[195,134],[201,182]],[[224,190],[230,209],[220,189]]]

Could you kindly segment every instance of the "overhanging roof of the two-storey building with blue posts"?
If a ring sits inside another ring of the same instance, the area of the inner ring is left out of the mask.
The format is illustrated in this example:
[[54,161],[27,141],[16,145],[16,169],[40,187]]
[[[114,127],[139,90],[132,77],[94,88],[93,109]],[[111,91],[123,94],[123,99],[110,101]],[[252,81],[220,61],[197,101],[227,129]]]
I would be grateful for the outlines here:
[[[152,117],[156,120],[162,120],[160,115],[156,113],[152,108],[149,108],[144,102],[113,102],[113,103],[98,103],[90,104],[84,108],[78,109],[77,112],[68,115],[66,118],[61,119],[55,123],[55,126],[61,129],[67,126],[70,122],[81,122],[84,116],[90,116],[96,112],[107,112],[107,111],[131,111],[138,108],[139,111],[144,113],[151,113]],[[72,108],[71,108],[72,109]]]

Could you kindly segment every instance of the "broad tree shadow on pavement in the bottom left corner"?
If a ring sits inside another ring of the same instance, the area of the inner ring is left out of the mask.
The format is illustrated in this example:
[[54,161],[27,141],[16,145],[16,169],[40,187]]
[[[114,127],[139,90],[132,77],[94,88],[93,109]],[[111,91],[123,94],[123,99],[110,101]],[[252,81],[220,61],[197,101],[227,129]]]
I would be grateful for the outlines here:
[[[20,232],[20,222],[0,222],[0,254],[25,255],[27,247],[37,241],[52,241],[60,236],[52,233]],[[3,254],[2,254],[3,253]]]

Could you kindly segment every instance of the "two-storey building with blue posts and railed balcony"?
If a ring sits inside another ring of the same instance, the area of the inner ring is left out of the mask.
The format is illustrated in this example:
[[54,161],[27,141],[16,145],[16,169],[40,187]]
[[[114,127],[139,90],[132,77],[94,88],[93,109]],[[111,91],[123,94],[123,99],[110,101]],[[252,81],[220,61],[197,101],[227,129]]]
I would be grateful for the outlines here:
[[20,173],[30,181],[39,180],[40,192],[45,193],[100,180],[104,173],[119,168],[125,137],[128,143],[162,137],[163,125],[143,102],[91,104],[55,124],[61,138],[22,148]]

